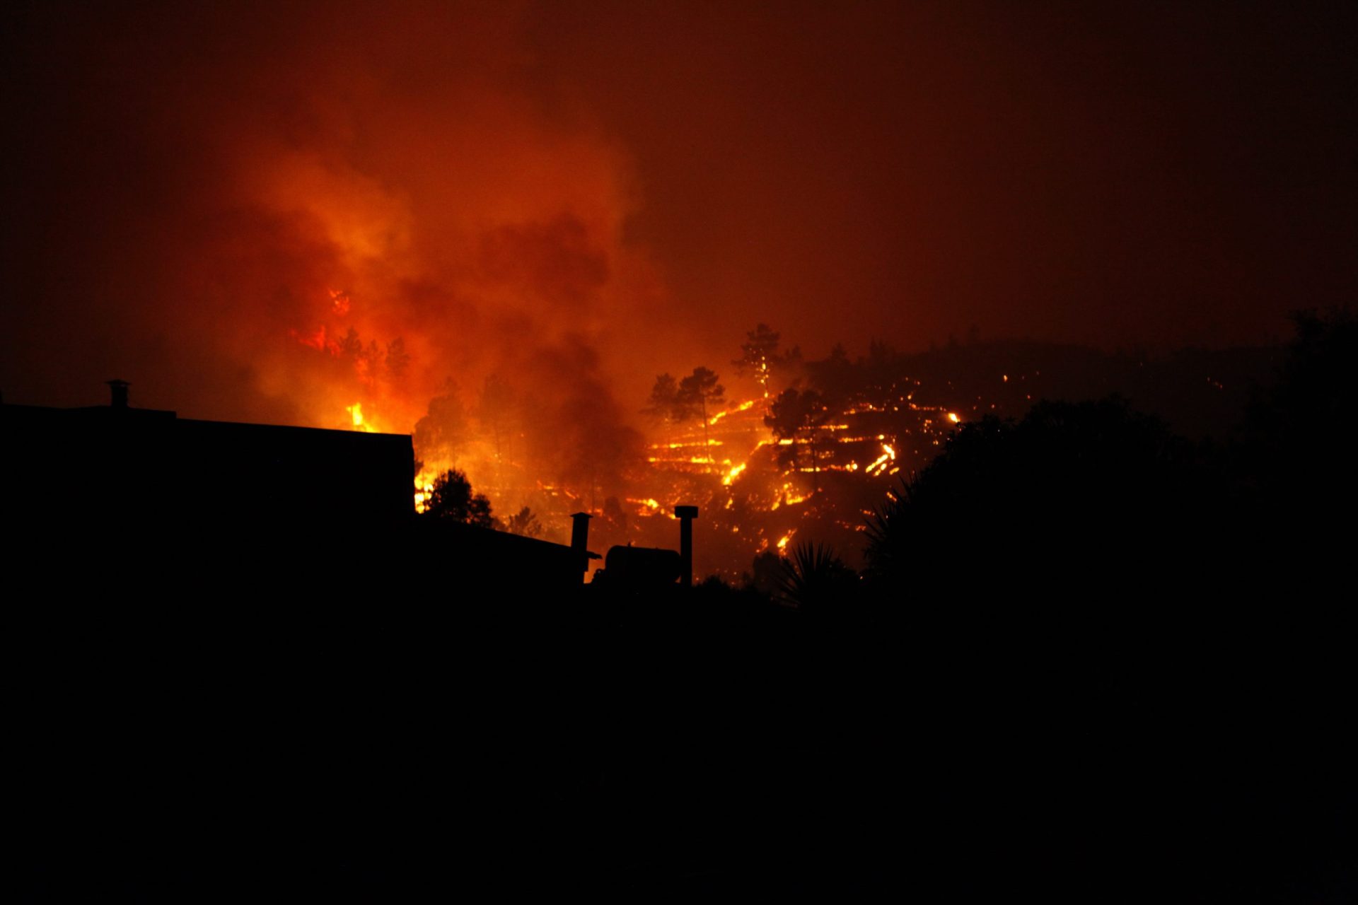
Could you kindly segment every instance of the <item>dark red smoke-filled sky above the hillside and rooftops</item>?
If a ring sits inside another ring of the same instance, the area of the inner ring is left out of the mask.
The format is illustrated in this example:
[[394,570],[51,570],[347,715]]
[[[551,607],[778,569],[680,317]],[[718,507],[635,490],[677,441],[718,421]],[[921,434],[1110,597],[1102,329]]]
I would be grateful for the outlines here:
[[603,423],[758,322],[1229,345],[1358,288],[1353,3],[4,16],[8,402]]

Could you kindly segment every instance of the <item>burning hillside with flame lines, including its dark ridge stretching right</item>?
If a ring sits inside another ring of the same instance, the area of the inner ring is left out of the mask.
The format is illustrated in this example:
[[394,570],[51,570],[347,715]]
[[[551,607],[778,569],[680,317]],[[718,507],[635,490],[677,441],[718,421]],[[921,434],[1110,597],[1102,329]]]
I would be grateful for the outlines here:
[[[732,342],[740,358],[716,360],[720,373],[659,374],[650,404],[638,393],[629,406],[579,336],[526,346],[517,368],[479,380],[448,368],[433,381],[422,355],[437,342],[418,322],[383,334],[380,324],[392,322],[380,311],[365,316],[363,294],[334,288],[316,293],[312,315],[285,331],[288,355],[315,380],[312,421],[411,434],[417,510],[439,475],[459,469],[501,526],[565,541],[569,514],[588,512],[592,544],[607,548],[672,547],[674,506],[697,505],[697,573],[727,579],[750,571],[759,554],[801,541],[857,563],[866,520],[959,425],[1021,415],[1042,395],[1071,395],[1071,387],[1097,392],[1097,380],[1076,374],[1116,361],[975,342],[915,355],[875,343],[856,361],[837,347],[804,361],[759,324],[744,343]],[[1066,377],[1044,376],[1035,361]],[[1222,377],[1245,383],[1219,366],[1215,373],[1198,393],[1219,395]]]

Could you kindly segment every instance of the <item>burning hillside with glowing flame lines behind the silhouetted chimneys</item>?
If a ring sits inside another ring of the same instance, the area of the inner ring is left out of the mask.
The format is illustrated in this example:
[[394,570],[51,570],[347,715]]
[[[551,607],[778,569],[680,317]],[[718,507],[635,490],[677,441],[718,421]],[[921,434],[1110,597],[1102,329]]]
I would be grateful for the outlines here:
[[[416,366],[405,338],[364,342],[348,326],[361,300],[333,289],[325,299],[322,323],[289,332],[295,353],[315,358],[318,369],[333,366],[330,426],[413,436],[417,510],[436,478],[455,468],[500,520],[527,507],[549,539],[565,540],[568,516],[584,510],[595,516],[596,545],[664,547],[674,544],[674,506],[695,503],[699,575],[737,578],[758,554],[782,554],[794,540],[830,543],[856,559],[865,518],[970,417],[896,373],[902,362],[887,350],[873,350],[875,365],[851,365],[842,353],[803,362],[799,350],[779,353],[778,334],[760,324],[747,334],[755,351],[747,343],[728,369],[732,387],[752,388],[752,396],[728,399],[721,376],[706,368],[683,381],[661,374],[649,408],[615,411],[618,422],[595,437],[598,421],[562,426],[572,411],[595,414],[592,407],[554,408],[512,373],[479,385],[445,380],[421,404],[402,391]],[[706,392],[680,404],[679,388],[698,376]],[[346,403],[345,389],[353,396]],[[656,404],[667,392],[669,404]],[[971,414],[982,407],[978,398]],[[621,426],[629,422],[644,430]]]

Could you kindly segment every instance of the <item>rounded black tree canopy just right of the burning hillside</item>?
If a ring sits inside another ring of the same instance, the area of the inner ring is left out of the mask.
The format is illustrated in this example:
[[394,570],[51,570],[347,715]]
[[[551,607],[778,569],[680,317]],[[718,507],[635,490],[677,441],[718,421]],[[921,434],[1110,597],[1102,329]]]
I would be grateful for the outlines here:
[[1070,589],[1109,567],[1130,579],[1196,550],[1179,541],[1205,531],[1217,493],[1192,444],[1127,400],[1040,402],[1017,423],[963,425],[869,518],[865,554],[889,583],[1039,570]]

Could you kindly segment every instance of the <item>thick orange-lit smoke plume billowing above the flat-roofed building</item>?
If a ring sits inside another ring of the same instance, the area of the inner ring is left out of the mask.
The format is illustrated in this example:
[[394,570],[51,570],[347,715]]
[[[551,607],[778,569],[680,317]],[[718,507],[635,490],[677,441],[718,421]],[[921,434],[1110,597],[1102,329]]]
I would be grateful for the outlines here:
[[14,324],[11,399],[118,376],[190,417],[411,431],[449,380],[470,411],[493,377],[535,407],[515,455],[543,479],[626,469],[599,350],[659,292],[623,237],[629,161],[532,102],[512,7],[109,4],[22,30],[49,109],[20,110],[5,265],[10,304],[46,315]]

